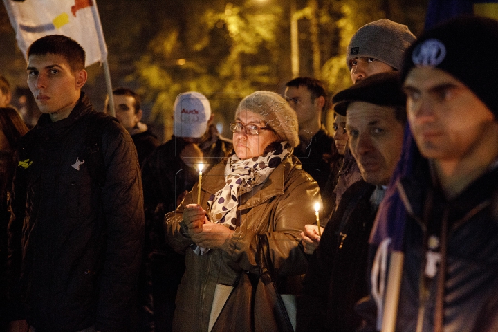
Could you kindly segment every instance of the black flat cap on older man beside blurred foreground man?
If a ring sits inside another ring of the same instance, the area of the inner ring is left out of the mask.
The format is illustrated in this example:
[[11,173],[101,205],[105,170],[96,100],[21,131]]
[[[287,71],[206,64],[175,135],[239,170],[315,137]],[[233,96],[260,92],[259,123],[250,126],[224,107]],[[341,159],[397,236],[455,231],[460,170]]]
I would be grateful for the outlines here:
[[368,102],[380,106],[405,107],[406,96],[401,90],[399,71],[371,75],[365,80],[336,93],[332,98],[335,113],[346,116],[351,102]]

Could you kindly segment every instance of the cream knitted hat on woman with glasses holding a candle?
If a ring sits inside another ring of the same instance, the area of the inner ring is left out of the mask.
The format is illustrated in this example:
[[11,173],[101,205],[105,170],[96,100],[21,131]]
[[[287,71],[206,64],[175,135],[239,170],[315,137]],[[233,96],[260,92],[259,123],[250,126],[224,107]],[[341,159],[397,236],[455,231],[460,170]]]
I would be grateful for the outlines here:
[[256,91],[244,98],[235,118],[243,111],[250,111],[261,116],[262,120],[293,147],[299,145],[297,115],[280,95],[270,91]]

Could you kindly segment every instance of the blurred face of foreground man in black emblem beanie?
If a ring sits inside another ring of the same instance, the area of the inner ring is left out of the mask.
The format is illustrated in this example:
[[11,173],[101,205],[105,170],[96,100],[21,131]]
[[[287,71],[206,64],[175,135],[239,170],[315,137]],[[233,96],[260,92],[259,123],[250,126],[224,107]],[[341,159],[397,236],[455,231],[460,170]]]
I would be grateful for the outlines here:
[[445,71],[414,68],[404,89],[410,128],[426,158],[461,160],[496,130],[490,109]]

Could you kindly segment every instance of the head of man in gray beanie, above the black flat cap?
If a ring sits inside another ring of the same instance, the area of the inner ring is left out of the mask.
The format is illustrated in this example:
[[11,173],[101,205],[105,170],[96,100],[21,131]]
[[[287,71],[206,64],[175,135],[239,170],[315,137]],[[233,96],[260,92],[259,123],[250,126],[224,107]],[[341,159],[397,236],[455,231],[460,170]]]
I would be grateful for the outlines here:
[[415,39],[407,26],[389,19],[359,28],[349,42],[346,55],[353,83],[376,73],[399,71],[405,50]]

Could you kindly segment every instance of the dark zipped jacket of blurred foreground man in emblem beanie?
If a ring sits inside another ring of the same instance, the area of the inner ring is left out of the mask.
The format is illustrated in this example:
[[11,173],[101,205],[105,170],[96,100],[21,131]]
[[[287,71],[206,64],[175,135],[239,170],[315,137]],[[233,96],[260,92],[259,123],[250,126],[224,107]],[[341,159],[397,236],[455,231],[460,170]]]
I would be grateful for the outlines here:
[[[396,331],[418,331],[417,324],[421,331],[434,331],[438,299],[443,303],[444,331],[498,331],[498,162],[450,200],[433,184],[427,159],[418,151],[413,169],[391,184],[406,211]],[[394,229],[391,226],[399,219],[386,215],[379,214],[378,228]],[[395,235],[391,234],[392,241]],[[432,235],[441,240],[442,258],[430,279],[424,271]],[[372,260],[376,250],[372,245]],[[376,331],[374,300],[370,297],[358,311],[367,323],[362,331]]]

